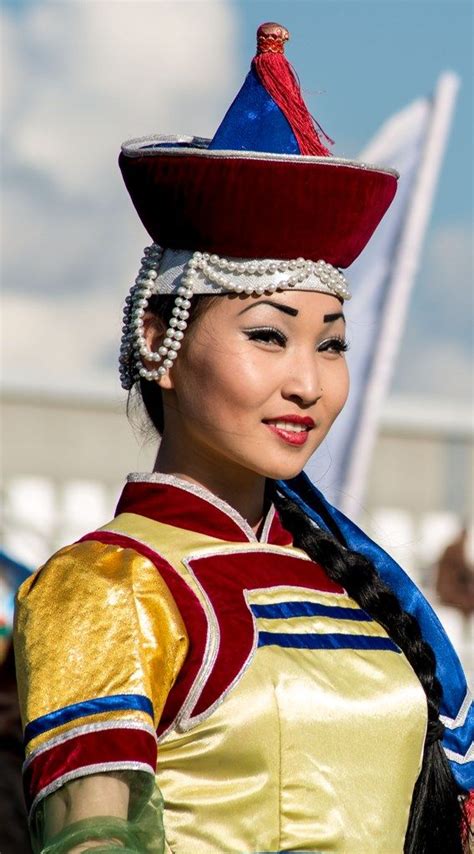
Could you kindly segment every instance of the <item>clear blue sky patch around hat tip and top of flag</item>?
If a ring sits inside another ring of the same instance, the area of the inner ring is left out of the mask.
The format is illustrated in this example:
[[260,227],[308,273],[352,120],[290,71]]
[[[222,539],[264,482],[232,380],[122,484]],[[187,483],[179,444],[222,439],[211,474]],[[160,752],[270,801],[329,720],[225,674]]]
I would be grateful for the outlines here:
[[[392,113],[433,89],[450,69],[462,80],[432,223],[472,216],[473,4],[463,0],[250,0],[242,20],[242,73],[256,28],[277,15],[313,115],[357,156]],[[273,17],[272,17],[273,16]],[[320,91],[321,94],[317,94]]]

